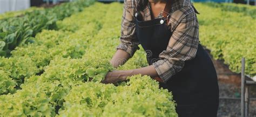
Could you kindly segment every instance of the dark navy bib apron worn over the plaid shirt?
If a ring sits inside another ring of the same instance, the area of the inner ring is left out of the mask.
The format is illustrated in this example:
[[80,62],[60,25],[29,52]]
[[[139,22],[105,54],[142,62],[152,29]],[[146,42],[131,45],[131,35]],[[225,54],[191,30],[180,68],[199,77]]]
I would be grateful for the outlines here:
[[[173,2],[167,0],[163,18],[141,20],[136,13],[136,33],[139,43],[147,53],[149,65],[159,60],[159,54],[166,50],[172,32],[166,25],[168,12]],[[195,12],[196,9],[194,9]],[[196,57],[185,61],[183,69],[173,75],[160,87],[167,88],[177,103],[179,117],[213,117],[217,116],[219,105],[219,87],[217,74],[212,61],[201,44],[198,45]]]

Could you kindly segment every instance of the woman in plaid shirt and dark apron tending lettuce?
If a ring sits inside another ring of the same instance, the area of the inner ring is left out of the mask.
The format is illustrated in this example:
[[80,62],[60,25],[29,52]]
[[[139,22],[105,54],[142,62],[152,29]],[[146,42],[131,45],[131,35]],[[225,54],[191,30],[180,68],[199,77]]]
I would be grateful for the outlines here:
[[149,66],[109,72],[104,83],[134,74],[158,78],[177,102],[183,117],[217,116],[219,88],[210,57],[199,44],[196,9],[189,0],[127,0],[121,43],[111,64],[123,65],[142,44]]

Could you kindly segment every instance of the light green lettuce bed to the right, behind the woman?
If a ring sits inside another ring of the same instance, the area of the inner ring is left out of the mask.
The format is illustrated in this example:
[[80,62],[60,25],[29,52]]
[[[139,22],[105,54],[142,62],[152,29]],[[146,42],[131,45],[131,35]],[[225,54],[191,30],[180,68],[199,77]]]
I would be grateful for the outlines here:
[[[243,12],[224,11],[223,7],[214,8],[205,3],[194,3],[194,6],[200,12],[199,39],[211,50],[212,56],[224,60],[230,70],[236,73],[241,72],[241,58],[245,57],[246,74],[251,77],[256,75],[256,19]],[[256,10],[255,7],[250,9]]]

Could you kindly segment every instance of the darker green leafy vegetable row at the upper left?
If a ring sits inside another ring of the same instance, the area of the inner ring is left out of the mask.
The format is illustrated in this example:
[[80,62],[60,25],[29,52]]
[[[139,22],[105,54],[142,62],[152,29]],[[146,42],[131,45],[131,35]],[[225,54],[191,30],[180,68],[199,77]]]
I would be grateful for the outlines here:
[[33,42],[33,37],[38,32],[43,29],[56,29],[57,20],[80,12],[93,3],[93,0],[77,0],[50,9],[32,8],[21,11],[17,13],[17,15],[21,14],[20,17],[7,17],[7,15],[7,18],[0,19],[0,56],[9,57],[16,46]]

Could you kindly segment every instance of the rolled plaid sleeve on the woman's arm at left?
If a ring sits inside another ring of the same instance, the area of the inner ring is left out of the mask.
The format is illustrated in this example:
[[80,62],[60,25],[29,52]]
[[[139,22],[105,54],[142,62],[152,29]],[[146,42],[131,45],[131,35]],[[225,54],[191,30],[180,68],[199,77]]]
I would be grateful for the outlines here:
[[120,42],[117,49],[126,51],[131,57],[139,49],[134,23],[134,3],[129,0],[124,2]]

